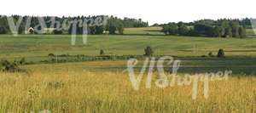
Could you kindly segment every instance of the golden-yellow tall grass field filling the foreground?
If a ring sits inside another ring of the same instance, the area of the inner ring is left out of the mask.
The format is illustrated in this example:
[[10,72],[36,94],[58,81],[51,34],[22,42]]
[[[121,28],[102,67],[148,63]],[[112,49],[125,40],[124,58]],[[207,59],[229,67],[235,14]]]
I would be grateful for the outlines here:
[[256,112],[253,76],[210,82],[208,99],[200,82],[192,99],[191,85],[157,88],[152,83],[147,89],[143,79],[136,91],[127,73],[86,71],[82,65],[31,65],[26,73],[0,73],[0,112]]

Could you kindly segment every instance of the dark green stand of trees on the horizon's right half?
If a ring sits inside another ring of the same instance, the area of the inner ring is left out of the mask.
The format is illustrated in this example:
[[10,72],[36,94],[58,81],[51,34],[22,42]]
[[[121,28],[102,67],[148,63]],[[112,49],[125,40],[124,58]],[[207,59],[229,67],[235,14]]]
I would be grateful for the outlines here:
[[166,35],[202,37],[246,37],[248,19],[245,20],[198,20],[190,23],[168,23],[163,26]]

